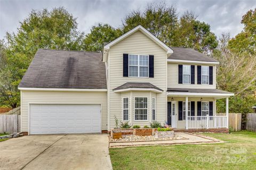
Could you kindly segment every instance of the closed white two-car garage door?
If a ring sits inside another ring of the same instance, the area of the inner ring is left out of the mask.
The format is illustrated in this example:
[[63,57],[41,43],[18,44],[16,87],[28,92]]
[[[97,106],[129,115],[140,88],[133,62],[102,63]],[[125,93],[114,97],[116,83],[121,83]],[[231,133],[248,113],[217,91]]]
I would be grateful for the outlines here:
[[30,105],[30,134],[100,133],[100,105]]

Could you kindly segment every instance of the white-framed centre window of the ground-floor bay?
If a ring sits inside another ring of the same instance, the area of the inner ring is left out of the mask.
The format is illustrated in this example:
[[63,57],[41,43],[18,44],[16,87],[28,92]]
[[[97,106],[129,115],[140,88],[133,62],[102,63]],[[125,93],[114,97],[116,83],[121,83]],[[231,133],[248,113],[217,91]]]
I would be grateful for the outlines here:
[[148,98],[135,97],[135,121],[148,120]]

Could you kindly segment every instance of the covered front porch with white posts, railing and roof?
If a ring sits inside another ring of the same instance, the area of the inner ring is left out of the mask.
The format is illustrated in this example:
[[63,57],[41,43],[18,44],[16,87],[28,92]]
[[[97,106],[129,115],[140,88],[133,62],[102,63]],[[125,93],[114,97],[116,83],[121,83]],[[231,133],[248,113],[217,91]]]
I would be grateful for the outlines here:
[[[218,89],[168,89],[167,124],[178,131],[228,129],[228,98]],[[216,100],[226,98],[226,115],[216,112]]]

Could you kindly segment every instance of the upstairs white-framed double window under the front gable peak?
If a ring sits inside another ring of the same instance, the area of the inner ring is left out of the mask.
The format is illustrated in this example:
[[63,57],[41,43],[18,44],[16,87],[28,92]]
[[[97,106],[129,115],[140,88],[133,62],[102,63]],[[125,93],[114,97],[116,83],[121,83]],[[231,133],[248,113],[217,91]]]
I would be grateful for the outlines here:
[[148,77],[148,55],[129,54],[129,77]]

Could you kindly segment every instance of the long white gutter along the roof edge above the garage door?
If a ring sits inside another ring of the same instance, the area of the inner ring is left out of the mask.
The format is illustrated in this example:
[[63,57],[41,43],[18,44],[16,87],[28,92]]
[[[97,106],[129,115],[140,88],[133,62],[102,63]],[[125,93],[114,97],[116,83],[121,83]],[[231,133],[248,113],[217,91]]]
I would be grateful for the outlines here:
[[65,88],[23,88],[19,87],[22,91],[107,91],[107,89],[65,89]]

